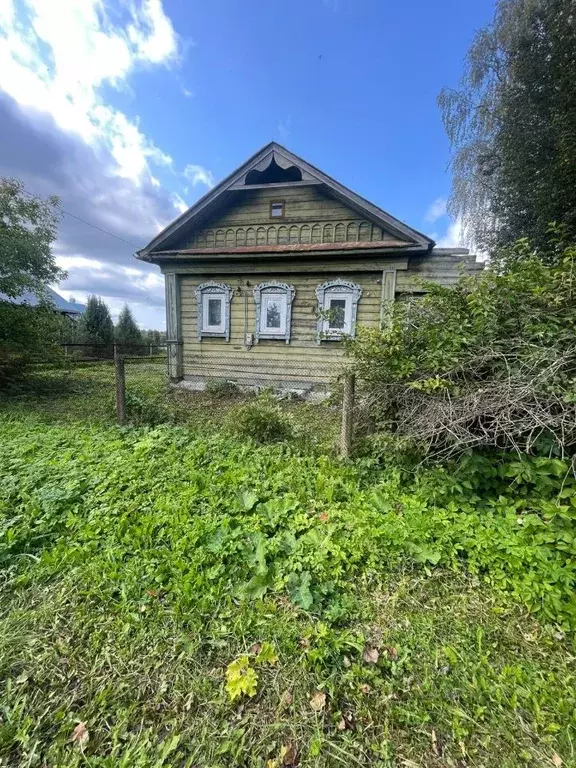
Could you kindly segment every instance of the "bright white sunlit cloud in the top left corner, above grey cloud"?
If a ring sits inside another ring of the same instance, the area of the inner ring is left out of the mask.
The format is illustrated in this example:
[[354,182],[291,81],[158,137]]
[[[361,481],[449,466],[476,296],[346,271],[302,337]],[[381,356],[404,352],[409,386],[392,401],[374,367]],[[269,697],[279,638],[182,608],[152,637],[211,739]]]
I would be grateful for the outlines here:
[[104,0],[65,0],[57,12],[47,0],[0,3],[0,89],[91,146],[103,144],[114,171],[137,184],[149,178],[149,163],[170,165],[138,122],[100,93],[103,86],[125,87],[137,67],[177,59],[178,38],[161,0],[127,5],[125,26],[110,21]]

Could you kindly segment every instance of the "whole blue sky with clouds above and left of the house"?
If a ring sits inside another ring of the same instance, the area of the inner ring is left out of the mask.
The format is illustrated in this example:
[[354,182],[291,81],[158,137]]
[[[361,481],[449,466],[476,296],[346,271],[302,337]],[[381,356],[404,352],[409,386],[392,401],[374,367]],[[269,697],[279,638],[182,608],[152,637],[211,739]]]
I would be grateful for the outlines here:
[[[443,245],[457,85],[493,0],[0,0],[0,175],[65,215],[56,253],[163,327],[162,281],[132,259],[185,205],[274,139]],[[134,247],[132,247],[132,245]]]

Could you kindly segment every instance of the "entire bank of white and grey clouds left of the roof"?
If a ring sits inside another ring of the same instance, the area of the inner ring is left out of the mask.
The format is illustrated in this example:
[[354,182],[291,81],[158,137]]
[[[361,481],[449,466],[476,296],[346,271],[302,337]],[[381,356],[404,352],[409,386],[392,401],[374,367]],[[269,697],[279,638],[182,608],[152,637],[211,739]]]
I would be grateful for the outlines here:
[[[164,324],[163,278],[132,253],[188,207],[187,192],[114,91],[179,65],[186,47],[163,0],[0,0],[0,175],[60,195],[71,214],[55,249],[69,271],[61,289],[100,294],[113,311],[128,301],[144,327]],[[203,166],[187,171],[190,187],[213,186]]]

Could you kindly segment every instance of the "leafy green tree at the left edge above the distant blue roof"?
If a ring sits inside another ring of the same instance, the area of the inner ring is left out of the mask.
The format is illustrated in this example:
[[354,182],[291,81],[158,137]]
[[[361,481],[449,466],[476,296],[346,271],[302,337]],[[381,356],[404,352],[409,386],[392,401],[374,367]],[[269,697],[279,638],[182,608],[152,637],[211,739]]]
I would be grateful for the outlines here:
[[59,205],[57,197],[32,197],[20,181],[0,179],[0,293],[41,295],[46,285],[65,277],[52,254]]

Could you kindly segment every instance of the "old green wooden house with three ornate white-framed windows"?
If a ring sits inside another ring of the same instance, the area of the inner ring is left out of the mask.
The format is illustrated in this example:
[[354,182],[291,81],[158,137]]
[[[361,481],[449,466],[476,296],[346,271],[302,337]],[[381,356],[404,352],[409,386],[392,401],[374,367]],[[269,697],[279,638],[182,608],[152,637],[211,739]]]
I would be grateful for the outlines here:
[[166,281],[170,375],[309,391],[390,303],[481,268],[271,143],[137,258]]

